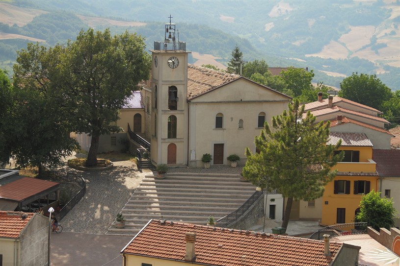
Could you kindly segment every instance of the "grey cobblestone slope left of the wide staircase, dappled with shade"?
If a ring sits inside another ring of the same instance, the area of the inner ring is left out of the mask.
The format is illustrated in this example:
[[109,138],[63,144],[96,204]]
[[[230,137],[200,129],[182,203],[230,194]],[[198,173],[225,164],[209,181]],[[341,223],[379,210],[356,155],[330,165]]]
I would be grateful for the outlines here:
[[148,172],[140,172],[131,161],[114,162],[103,171],[63,170],[80,174],[86,180],[84,198],[61,220],[65,231],[105,234],[134,189]]

